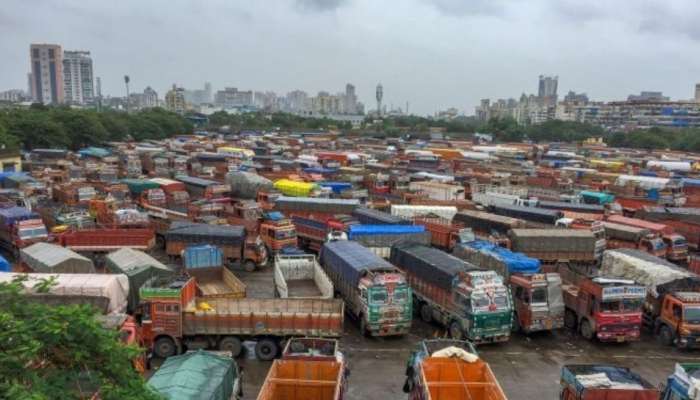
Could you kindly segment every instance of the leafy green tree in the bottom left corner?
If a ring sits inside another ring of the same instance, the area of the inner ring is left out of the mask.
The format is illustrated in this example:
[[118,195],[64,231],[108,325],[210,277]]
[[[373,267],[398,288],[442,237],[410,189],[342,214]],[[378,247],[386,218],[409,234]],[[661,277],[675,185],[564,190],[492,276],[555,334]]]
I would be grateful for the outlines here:
[[[103,328],[86,305],[49,306],[0,283],[0,398],[159,399],[134,370],[140,351]],[[51,281],[35,289],[46,291]]]

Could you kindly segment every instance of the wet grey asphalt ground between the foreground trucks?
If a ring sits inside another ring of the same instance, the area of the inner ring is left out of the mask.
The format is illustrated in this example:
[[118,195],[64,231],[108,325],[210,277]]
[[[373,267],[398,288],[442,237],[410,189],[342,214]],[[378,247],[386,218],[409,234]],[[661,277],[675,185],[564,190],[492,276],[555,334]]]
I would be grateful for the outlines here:
[[[346,400],[406,399],[404,372],[409,354],[423,338],[444,334],[437,325],[413,320],[403,337],[361,337],[355,321],[345,321],[340,349],[350,367]],[[508,343],[477,348],[493,370],[509,400],[559,398],[559,373],[565,364],[606,363],[632,368],[655,386],[665,383],[677,362],[700,362],[700,350],[681,351],[644,335],[628,344],[589,342],[567,330],[515,334]],[[255,400],[271,362],[241,358],[243,399]]]

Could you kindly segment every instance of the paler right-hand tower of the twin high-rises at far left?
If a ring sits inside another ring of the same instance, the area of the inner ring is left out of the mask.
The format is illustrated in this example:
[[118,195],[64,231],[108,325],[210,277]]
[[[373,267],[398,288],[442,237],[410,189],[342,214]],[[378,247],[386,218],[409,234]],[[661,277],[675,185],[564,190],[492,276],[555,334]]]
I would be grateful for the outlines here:
[[63,53],[63,92],[66,103],[86,104],[95,97],[92,58],[89,51]]

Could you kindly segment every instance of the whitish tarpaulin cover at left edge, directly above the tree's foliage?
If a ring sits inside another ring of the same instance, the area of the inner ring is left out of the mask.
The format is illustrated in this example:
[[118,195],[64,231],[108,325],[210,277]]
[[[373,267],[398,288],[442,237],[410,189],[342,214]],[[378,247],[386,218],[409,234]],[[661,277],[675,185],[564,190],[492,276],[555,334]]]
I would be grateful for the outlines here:
[[[49,289],[50,294],[57,296],[85,296],[86,298],[102,297],[109,299],[108,314],[126,312],[129,296],[129,279],[126,275],[106,274],[18,274],[0,273],[0,282],[11,282],[15,277],[25,275],[23,282],[28,293],[36,293],[34,286],[42,279],[55,277],[56,285]],[[86,303],[90,304],[89,301]]]

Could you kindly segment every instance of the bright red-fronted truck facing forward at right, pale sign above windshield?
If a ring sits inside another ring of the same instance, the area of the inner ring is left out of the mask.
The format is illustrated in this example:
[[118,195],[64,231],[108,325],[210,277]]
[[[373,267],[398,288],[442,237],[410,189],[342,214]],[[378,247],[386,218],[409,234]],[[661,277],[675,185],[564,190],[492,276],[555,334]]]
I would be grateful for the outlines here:
[[646,288],[634,281],[583,278],[578,285],[562,285],[564,325],[586,339],[602,342],[639,340]]

